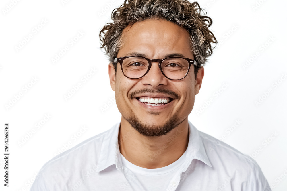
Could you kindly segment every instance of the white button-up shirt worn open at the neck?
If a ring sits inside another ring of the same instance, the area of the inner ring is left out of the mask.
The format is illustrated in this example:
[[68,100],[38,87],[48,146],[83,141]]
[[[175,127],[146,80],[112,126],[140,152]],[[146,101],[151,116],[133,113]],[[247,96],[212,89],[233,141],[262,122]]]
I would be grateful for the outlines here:
[[157,184],[162,185],[156,189],[164,191],[271,191],[255,160],[188,123],[187,150],[179,160],[162,167],[176,167],[166,182],[160,181],[161,175],[150,183],[143,181],[144,174],[136,175],[129,169],[131,164],[119,151],[119,122],[44,164],[30,191],[129,191],[147,190]]

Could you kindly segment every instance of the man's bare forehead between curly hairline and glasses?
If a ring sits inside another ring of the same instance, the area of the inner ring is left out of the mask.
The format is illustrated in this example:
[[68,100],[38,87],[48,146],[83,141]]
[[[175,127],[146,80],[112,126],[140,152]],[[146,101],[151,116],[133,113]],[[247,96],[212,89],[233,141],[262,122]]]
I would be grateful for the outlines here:
[[139,52],[150,58],[177,53],[193,59],[188,31],[170,21],[148,19],[136,22],[123,30],[121,40],[117,57]]

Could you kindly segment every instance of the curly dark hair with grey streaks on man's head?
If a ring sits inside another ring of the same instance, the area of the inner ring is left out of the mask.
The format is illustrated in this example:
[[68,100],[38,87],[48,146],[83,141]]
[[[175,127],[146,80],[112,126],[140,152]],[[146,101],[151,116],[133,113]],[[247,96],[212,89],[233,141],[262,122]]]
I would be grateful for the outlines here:
[[[213,47],[211,43],[217,43],[213,33],[208,29],[212,25],[212,19],[203,12],[197,2],[187,0],[125,0],[119,7],[113,10],[111,19],[113,23],[107,23],[100,31],[101,47],[104,48],[113,63],[121,46],[122,32],[136,22],[146,19],[164,19],[185,28],[190,35],[190,48],[199,65],[204,66],[207,57],[211,56]],[[114,64],[115,72],[117,65]],[[198,68],[195,67],[195,78]]]

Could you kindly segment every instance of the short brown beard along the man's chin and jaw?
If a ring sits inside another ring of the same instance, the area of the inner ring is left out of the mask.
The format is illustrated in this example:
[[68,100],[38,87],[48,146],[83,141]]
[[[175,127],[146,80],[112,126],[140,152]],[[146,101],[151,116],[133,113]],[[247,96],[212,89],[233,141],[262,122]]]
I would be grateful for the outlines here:
[[[158,115],[158,113],[153,112],[153,115]],[[123,118],[127,120],[137,132],[145,137],[166,135],[184,121],[184,119],[181,121],[178,117],[173,116],[166,121],[164,125],[158,126],[154,124],[142,123],[134,114],[129,118],[125,118],[124,116]]]

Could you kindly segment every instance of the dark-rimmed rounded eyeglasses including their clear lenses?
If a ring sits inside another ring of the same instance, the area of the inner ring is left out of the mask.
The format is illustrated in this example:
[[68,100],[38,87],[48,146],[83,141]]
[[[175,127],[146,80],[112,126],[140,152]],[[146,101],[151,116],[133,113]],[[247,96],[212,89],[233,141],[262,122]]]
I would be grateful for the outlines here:
[[158,62],[158,67],[162,74],[169,80],[181,80],[187,76],[191,65],[199,68],[196,60],[182,57],[168,57],[160,59],[148,59],[143,56],[125,56],[115,58],[113,64],[121,64],[121,69],[125,77],[139,79],[144,77],[150,70],[152,63]]

